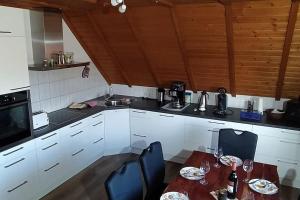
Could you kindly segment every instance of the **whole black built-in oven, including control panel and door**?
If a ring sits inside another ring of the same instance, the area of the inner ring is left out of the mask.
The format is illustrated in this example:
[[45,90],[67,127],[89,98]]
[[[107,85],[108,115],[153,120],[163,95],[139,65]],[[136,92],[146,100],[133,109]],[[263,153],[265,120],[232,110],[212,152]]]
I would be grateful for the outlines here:
[[32,137],[29,91],[0,95],[0,149]]

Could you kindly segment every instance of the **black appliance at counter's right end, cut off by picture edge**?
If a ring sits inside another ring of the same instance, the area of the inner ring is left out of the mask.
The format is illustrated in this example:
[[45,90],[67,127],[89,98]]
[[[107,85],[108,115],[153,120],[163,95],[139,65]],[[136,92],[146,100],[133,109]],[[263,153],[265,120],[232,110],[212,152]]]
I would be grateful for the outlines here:
[[298,100],[289,100],[286,103],[285,119],[291,123],[300,123],[300,96]]

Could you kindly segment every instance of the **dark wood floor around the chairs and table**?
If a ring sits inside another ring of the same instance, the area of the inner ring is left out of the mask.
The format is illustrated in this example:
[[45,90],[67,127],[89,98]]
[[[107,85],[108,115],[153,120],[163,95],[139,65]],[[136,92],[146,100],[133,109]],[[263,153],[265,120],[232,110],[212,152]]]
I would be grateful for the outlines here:
[[[80,174],[71,178],[60,187],[46,195],[42,200],[107,200],[104,181],[109,174],[119,168],[123,162],[136,160],[135,154],[105,156]],[[166,163],[166,181],[177,176],[181,165],[174,162]],[[281,200],[300,200],[300,189],[282,186]]]

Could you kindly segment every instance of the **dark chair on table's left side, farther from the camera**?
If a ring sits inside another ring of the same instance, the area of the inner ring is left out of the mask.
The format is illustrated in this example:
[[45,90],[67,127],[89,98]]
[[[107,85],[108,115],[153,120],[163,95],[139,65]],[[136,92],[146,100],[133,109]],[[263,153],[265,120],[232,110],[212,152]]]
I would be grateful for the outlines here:
[[144,149],[139,159],[147,188],[145,200],[159,199],[167,186],[164,183],[165,161],[161,143],[151,143]]

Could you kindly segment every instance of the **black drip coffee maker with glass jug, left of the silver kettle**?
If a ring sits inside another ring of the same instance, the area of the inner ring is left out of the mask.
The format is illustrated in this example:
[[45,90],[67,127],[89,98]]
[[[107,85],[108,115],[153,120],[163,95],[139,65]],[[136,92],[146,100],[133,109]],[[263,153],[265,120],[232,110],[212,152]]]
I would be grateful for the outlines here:
[[171,107],[180,109],[185,106],[185,83],[174,81],[171,84],[169,95],[171,96]]

